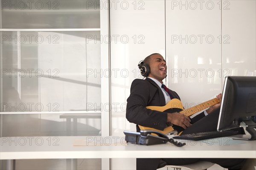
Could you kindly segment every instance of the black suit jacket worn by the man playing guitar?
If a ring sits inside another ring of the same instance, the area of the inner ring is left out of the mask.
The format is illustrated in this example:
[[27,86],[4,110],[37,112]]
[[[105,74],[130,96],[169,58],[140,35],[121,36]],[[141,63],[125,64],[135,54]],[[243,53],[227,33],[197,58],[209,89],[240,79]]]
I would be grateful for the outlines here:
[[[180,100],[175,91],[170,89],[169,91],[174,98]],[[131,94],[127,99],[126,119],[137,125],[164,130],[167,122],[167,113],[146,108],[146,106],[164,105],[166,103],[163,91],[152,79],[134,79],[131,84]],[[192,119],[192,123],[197,122],[204,116],[203,112],[200,113]]]

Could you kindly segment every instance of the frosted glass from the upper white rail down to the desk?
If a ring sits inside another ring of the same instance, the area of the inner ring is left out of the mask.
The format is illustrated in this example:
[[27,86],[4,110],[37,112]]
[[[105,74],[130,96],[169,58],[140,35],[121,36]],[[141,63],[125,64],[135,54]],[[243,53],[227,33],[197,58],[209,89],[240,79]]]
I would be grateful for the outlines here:
[[0,33],[1,135],[100,135],[100,31]]

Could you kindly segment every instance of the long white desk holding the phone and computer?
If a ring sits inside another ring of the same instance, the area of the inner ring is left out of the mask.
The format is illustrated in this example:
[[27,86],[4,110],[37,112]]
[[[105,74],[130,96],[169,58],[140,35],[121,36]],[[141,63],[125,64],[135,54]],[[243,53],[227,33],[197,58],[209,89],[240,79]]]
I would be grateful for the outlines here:
[[[76,139],[89,142],[87,142],[87,146],[73,146]],[[121,143],[115,146],[113,143],[117,139],[121,139]],[[101,136],[2,137],[0,142],[0,159],[8,160],[184,157],[256,159],[256,141],[241,141],[244,144],[230,144],[227,139],[219,140],[218,144],[213,144],[212,139],[209,139],[208,143],[186,141],[187,145],[183,147],[176,147],[171,143],[151,146],[131,143],[125,145],[124,136],[105,138]],[[103,145],[104,143],[109,146]]]

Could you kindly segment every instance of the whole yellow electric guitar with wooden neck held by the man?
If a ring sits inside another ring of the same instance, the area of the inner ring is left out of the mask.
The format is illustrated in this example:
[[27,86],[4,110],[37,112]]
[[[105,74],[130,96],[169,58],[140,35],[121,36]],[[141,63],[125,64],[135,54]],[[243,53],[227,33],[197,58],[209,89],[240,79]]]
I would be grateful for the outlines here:
[[[172,99],[170,100],[165,106],[147,106],[146,108],[154,110],[154,111],[161,111],[161,112],[167,112],[167,113],[182,113],[186,116],[191,116],[195,113],[198,113],[199,111],[202,111],[206,108],[209,108],[212,105],[215,105],[217,103],[219,103],[220,101],[215,98],[215,99],[211,99],[208,100],[207,102],[201,103],[199,105],[196,105],[192,108],[183,110],[183,105],[181,103],[181,101],[179,99]],[[144,127],[144,126],[140,126],[140,130],[157,130],[154,129],[152,127]],[[177,134],[180,135],[183,131],[183,127],[177,126],[177,125],[170,125],[169,127],[166,127],[164,130],[157,130],[159,132],[162,132],[166,135],[170,135],[170,134]]]

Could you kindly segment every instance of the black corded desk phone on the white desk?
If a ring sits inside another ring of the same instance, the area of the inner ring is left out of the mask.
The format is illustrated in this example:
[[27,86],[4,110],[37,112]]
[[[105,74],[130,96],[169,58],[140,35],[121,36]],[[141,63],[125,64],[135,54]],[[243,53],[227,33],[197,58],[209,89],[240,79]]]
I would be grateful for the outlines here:
[[[171,142],[176,146],[185,145],[185,143],[175,142],[172,138],[169,139],[165,134],[155,130],[140,130],[140,132],[124,131],[124,133],[125,141],[134,144],[152,145]],[[155,135],[152,135],[152,133]]]

